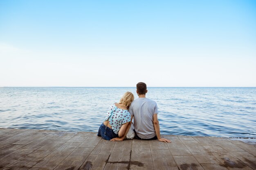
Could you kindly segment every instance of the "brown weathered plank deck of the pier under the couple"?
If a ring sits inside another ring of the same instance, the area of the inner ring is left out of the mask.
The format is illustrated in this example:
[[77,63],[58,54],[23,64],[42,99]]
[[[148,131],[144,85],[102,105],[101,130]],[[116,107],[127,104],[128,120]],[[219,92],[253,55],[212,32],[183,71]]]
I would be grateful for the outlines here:
[[252,170],[256,145],[220,137],[164,135],[171,143],[96,133],[0,129],[0,170]]

